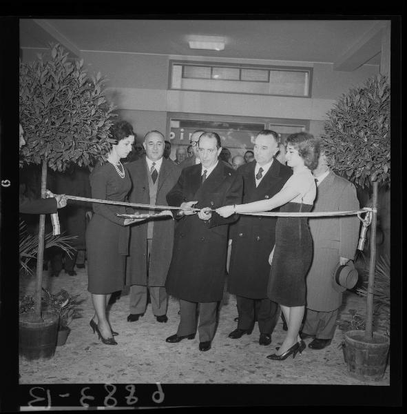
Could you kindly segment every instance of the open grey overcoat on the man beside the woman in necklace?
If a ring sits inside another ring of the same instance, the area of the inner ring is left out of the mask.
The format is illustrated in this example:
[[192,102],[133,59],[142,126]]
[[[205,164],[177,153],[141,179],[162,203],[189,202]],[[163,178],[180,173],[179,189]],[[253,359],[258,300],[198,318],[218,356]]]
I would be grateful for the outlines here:
[[[149,204],[149,184],[145,156],[126,164],[132,179],[132,190],[128,195],[130,203]],[[180,168],[173,161],[163,158],[158,175],[156,205],[168,206],[166,195],[176,184]],[[141,210],[127,208],[133,213],[159,213],[161,210]],[[164,286],[169,263],[171,262],[174,241],[174,219],[163,217],[154,219],[152,250],[149,264],[149,286]],[[127,257],[126,284],[147,284],[147,221],[130,226],[129,257]]]

